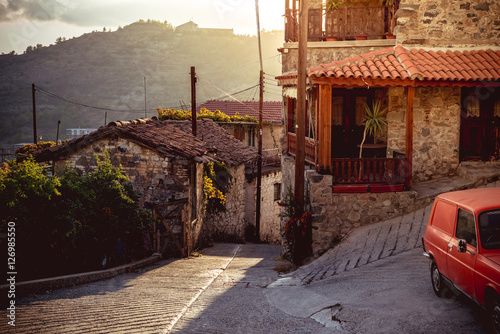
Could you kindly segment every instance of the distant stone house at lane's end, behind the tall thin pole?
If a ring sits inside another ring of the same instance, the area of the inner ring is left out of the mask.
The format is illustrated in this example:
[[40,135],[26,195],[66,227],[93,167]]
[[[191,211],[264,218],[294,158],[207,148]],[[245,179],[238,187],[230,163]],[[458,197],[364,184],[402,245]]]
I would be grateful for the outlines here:
[[[222,111],[228,116],[239,114],[240,116],[252,116],[259,119],[259,102],[252,101],[225,101],[209,100],[198,106],[210,111]],[[268,243],[279,243],[280,232],[280,207],[278,201],[281,199],[281,132],[283,123],[281,112],[282,102],[265,101],[262,108],[262,178],[261,178],[261,213],[260,213],[260,241]],[[245,124],[238,122],[219,123],[226,131],[235,138],[246,144],[251,150],[257,151],[258,128],[254,123]],[[254,235],[256,225],[256,196],[257,196],[257,160],[246,166],[246,206],[245,224],[247,226],[247,238]]]

